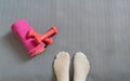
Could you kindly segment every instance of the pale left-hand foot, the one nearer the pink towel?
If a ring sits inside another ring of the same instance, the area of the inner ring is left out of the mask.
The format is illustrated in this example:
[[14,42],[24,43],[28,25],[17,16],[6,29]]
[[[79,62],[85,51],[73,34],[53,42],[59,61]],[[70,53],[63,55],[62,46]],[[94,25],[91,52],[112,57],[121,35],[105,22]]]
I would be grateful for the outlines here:
[[57,81],[69,81],[70,57],[67,52],[60,52],[54,59],[54,72]]

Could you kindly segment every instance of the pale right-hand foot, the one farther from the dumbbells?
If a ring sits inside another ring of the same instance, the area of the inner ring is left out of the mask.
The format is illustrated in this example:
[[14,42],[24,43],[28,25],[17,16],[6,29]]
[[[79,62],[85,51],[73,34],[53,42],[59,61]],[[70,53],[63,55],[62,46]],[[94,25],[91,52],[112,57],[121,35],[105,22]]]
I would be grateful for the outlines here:
[[78,52],[74,56],[74,81],[86,81],[90,70],[90,64],[87,56]]

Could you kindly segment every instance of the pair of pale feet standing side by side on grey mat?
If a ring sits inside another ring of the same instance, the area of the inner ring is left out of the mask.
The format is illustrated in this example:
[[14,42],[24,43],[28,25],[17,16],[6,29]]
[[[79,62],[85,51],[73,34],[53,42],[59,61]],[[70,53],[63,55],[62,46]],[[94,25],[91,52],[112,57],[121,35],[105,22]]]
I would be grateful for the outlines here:
[[[67,52],[60,52],[54,59],[54,72],[57,81],[69,81],[70,57]],[[86,81],[90,69],[87,56],[78,52],[74,56],[74,81]]]

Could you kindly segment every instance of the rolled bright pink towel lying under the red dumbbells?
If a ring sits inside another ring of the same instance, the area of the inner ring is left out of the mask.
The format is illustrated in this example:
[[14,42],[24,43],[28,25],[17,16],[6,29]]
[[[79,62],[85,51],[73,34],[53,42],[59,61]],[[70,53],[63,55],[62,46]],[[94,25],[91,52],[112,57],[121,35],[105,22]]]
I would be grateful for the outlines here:
[[35,56],[44,51],[46,44],[43,42],[37,44],[34,38],[27,37],[27,32],[32,28],[26,23],[26,21],[20,19],[15,22],[12,25],[11,29],[22,41],[24,48],[30,56]]

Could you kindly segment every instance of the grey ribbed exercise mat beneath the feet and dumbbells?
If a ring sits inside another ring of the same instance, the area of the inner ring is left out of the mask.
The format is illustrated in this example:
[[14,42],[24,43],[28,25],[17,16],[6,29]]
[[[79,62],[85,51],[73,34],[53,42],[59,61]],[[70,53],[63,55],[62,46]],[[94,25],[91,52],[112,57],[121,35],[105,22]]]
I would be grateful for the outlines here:
[[[25,18],[42,33],[58,28],[53,44],[29,57],[11,25]],[[56,81],[60,51],[81,51],[91,70],[87,81],[130,81],[130,0],[0,0],[0,81]]]

